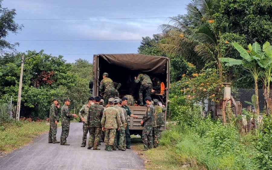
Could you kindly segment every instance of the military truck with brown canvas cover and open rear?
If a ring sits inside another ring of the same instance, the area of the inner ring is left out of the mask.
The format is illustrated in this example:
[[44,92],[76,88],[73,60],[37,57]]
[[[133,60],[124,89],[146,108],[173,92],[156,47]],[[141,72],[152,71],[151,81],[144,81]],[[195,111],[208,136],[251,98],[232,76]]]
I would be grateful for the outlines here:
[[[143,127],[140,122],[147,110],[146,106],[138,106],[139,104],[139,87],[140,83],[134,83],[134,77],[141,72],[149,76],[155,76],[164,82],[164,94],[152,95],[151,98],[157,98],[161,104],[167,107],[169,94],[169,64],[170,59],[163,56],[149,56],[142,54],[97,54],[93,56],[93,81],[90,82],[89,88],[94,96],[100,95],[99,85],[104,72],[108,73],[108,77],[113,82],[121,83],[118,89],[120,98],[125,95],[132,95],[135,99],[135,104],[129,106],[131,113],[138,116],[138,119],[128,116],[128,124],[130,134],[142,134]],[[144,94],[145,96],[145,94]],[[166,112],[164,113],[166,120]],[[166,129],[166,121],[160,131]]]

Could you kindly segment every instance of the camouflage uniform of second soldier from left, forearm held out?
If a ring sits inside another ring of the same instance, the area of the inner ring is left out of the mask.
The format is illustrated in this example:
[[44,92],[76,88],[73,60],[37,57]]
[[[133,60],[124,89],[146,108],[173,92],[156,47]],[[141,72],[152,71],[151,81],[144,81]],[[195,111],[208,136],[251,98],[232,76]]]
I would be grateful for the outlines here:
[[73,117],[70,114],[68,106],[65,104],[61,107],[61,135],[60,135],[60,144],[66,143],[66,139],[69,135],[70,129],[70,118]]

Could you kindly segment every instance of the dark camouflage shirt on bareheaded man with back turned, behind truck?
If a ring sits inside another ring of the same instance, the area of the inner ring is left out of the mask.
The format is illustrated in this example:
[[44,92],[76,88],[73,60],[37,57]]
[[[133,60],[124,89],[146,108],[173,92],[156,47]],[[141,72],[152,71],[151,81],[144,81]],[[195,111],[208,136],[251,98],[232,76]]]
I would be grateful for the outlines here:
[[90,106],[87,117],[87,124],[89,127],[101,127],[103,111],[104,107],[97,103]]

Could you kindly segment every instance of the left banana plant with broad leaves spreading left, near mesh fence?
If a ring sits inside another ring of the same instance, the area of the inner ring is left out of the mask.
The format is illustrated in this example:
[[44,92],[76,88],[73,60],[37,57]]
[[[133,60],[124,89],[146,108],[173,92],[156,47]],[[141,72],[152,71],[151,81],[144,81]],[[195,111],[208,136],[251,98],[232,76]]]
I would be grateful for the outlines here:
[[[261,73],[261,69],[259,68],[259,62],[261,60],[261,56],[258,55],[258,43],[255,42],[251,46],[251,44],[248,45],[248,49],[244,49],[241,45],[238,43],[234,42],[233,47],[235,47],[236,50],[239,51],[240,56],[242,59],[233,59],[233,58],[219,58],[219,61],[225,62],[226,66],[234,66],[234,65],[241,65],[244,67],[244,69],[248,70],[250,74],[252,75],[254,82],[255,82],[255,95],[256,95],[256,114],[260,114],[260,109],[259,109],[259,95],[258,95],[258,78]],[[253,49],[256,49],[254,51]],[[253,53],[251,51],[253,51]]]

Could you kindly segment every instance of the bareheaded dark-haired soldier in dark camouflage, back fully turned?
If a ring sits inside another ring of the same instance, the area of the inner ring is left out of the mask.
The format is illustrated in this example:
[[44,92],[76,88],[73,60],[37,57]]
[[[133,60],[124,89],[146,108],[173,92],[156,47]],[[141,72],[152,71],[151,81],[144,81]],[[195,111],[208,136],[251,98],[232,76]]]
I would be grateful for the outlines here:
[[101,97],[96,96],[96,103],[89,108],[87,117],[87,124],[89,125],[89,146],[87,149],[100,150],[97,148],[99,142],[99,135],[101,134],[101,118],[103,116],[104,107],[99,105]]

